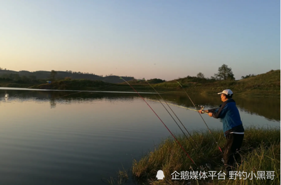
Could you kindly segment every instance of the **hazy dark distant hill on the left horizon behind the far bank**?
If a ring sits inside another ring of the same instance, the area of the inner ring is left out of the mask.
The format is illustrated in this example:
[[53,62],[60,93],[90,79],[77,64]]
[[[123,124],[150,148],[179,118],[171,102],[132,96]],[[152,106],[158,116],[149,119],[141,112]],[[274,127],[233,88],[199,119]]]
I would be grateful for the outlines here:
[[[108,83],[121,83],[123,82],[122,79],[120,79],[118,76],[107,76],[107,77],[101,77],[98,75],[90,74],[90,73],[81,73],[81,72],[69,72],[69,71],[56,71],[56,79],[62,80],[65,77],[70,77],[71,79],[88,79],[88,80],[100,80],[103,82],[108,82]],[[27,70],[21,70],[21,71],[13,71],[13,70],[0,70],[0,77],[3,77],[4,75],[9,75],[9,74],[18,74],[19,77],[30,77],[33,76],[36,79],[49,79],[50,78],[50,73],[51,71],[44,71],[44,70],[39,70],[39,71],[34,71],[30,72]],[[132,80],[133,77],[122,77],[126,81]]]

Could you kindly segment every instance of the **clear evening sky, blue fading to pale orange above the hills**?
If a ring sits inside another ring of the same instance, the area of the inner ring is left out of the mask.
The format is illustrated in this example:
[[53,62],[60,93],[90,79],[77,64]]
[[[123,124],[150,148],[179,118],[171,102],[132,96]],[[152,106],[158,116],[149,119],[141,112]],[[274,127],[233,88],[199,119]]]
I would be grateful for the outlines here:
[[280,1],[0,1],[0,67],[236,80],[280,69]]

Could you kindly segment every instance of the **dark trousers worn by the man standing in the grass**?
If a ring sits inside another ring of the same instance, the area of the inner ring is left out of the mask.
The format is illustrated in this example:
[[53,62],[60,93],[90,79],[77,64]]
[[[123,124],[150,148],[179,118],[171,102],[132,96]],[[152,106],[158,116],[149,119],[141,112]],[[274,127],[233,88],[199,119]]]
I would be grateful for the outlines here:
[[232,171],[235,163],[240,157],[239,151],[244,138],[244,134],[228,134],[226,136],[226,144],[224,149],[224,165],[227,172]]

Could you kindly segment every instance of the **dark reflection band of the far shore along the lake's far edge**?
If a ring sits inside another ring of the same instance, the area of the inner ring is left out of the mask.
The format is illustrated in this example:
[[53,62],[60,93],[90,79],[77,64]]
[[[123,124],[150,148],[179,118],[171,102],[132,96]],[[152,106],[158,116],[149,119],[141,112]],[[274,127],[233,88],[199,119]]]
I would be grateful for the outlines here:
[[[19,90],[0,90],[0,97],[8,97],[11,101],[49,101],[50,107],[55,108],[56,103],[83,103],[88,101],[96,101],[107,98],[108,101],[128,100],[138,97],[136,94],[122,94],[122,93],[88,93],[81,92],[71,94],[63,91],[19,91]],[[71,95],[68,95],[71,94]],[[68,95],[68,96],[67,96]],[[155,94],[143,94],[143,97],[156,99]],[[185,94],[162,94],[166,101],[193,107],[193,104]],[[190,94],[191,99],[197,105],[203,105],[205,108],[218,107],[222,102],[219,96],[206,94]],[[241,112],[263,116],[268,120],[280,121],[280,98],[270,97],[233,97]]]

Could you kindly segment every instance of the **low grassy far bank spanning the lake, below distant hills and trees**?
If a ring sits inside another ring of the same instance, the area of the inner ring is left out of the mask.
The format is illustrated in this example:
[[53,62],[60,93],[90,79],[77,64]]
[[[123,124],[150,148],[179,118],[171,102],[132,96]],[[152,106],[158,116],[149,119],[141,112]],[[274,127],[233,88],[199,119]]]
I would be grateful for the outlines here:
[[[155,91],[144,81],[129,80],[129,83],[138,92],[155,93]],[[180,85],[178,84],[180,83]],[[280,97],[280,69],[270,70],[257,76],[241,80],[214,80],[197,77],[179,78],[172,81],[152,83],[159,93],[182,94],[184,88],[187,93],[217,94],[224,89],[231,89],[234,96],[255,97]],[[181,87],[182,86],[182,87]],[[126,84],[111,83],[100,80],[89,79],[56,79],[51,84],[46,84],[46,79],[36,81],[1,81],[0,87],[35,88],[53,90],[76,90],[76,91],[118,91],[133,92]]]

